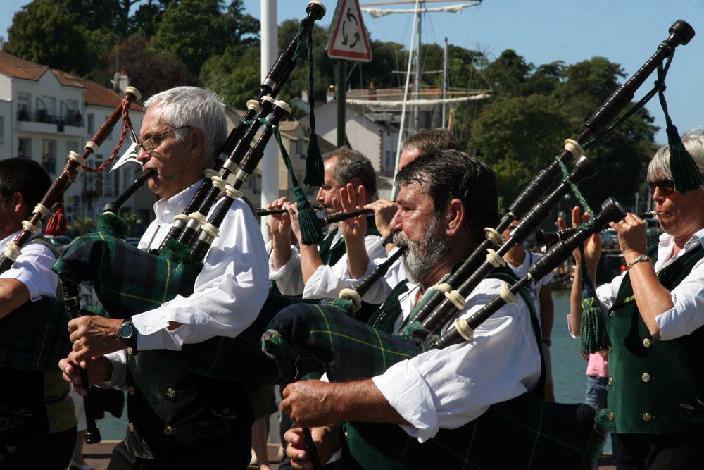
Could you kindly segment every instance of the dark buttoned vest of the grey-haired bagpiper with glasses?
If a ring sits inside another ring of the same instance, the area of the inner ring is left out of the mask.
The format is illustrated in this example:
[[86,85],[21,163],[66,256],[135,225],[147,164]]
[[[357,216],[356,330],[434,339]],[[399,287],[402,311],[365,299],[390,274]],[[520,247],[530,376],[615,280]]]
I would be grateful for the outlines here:
[[253,423],[246,387],[180,367],[153,351],[127,355],[127,450],[143,459],[241,446]]

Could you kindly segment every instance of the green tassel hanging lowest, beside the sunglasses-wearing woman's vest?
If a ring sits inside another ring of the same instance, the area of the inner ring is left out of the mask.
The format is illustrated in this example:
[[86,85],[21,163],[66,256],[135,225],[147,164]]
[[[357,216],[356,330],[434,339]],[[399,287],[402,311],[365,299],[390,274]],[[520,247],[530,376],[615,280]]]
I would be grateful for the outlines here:
[[[582,248],[579,249],[582,252]],[[584,259],[584,252],[582,252]],[[594,285],[587,276],[586,266],[582,263],[582,323],[579,326],[582,355],[609,350],[611,341],[606,331],[606,322],[601,311],[601,304],[596,297]]]

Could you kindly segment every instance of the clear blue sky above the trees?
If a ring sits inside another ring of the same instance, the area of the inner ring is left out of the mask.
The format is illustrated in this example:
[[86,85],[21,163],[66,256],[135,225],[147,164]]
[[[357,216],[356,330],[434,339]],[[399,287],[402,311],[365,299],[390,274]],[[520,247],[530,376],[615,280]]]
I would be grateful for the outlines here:
[[[373,0],[360,0],[360,4]],[[12,16],[27,0],[0,1],[0,35],[7,38]],[[332,21],[334,0],[322,0],[327,15],[320,21]],[[279,0],[279,23],[305,16],[305,0]],[[259,0],[244,0],[246,11],[260,16]],[[438,4],[434,4],[436,6]],[[408,4],[412,8],[413,4]],[[406,6],[394,6],[406,8]],[[408,47],[412,15],[391,15],[373,19],[363,14],[373,39],[395,41]],[[484,0],[480,6],[455,13],[428,13],[424,19],[423,42],[450,44],[485,51],[490,58],[504,49],[515,49],[527,61],[540,65],[562,60],[575,63],[593,56],[604,56],[620,63],[628,76],[650,57],[658,44],[667,38],[667,28],[674,20],[691,24],[698,35],[677,48],[667,75],[665,97],[674,124],[681,132],[704,127],[704,1],[702,0]],[[372,51],[373,53],[373,51]],[[636,99],[650,88],[646,81]],[[657,98],[648,105],[655,124],[665,127]],[[657,139],[666,140],[664,130]]]

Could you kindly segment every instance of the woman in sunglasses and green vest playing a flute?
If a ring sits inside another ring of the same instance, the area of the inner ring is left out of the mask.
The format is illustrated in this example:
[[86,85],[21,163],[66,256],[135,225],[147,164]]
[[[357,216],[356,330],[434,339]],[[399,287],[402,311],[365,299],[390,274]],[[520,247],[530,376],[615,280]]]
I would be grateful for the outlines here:
[[[704,175],[704,132],[682,137]],[[647,247],[635,214],[611,227],[627,269],[596,290],[608,321],[608,419],[620,442],[619,469],[694,469],[704,462],[704,187],[674,190],[670,147],[648,166],[648,186],[664,233]],[[584,220],[579,208],[572,223]],[[564,228],[564,221],[558,221]],[[575,252],[570,323],[582,317],[580,268],[593,279],[599,236]],[[572,328],[574,331],[575,329]]]

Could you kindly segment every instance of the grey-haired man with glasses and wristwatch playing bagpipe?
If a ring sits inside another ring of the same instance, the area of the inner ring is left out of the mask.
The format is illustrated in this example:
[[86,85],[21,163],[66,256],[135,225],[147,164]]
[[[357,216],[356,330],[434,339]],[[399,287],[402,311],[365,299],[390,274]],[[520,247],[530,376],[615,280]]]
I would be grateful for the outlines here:
[[[161,197],[154,204],[156,220],[139,242],[149,251],[160,246],[203,171],[213,166],[227,124],[222,102],[196,87],[166,90],[144,107],[138,159],[145,171],[156,170],[149,188]],[[177,295],[129,320],[83,316],[70,321],[73,352],[60,362],[66,380],[85,394],[74,366],[80,364],[91,383],[127,388],[130,424],[109,468],[246,467],[253,419],[244,385],[199,376],[151,350],[181,350],[215,336],[234,338],[256,319],[268,286],[258,222],[237,199],[191,295]]]

